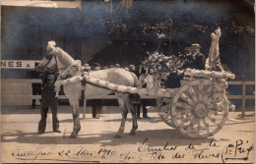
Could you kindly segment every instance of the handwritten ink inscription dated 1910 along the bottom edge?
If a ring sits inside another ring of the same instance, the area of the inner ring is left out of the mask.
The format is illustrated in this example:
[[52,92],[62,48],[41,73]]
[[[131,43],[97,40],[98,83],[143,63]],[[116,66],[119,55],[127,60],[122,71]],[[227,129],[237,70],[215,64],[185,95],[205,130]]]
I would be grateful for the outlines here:
[[[155,143],[156,144],[156,143]],[[118,159],[120,162],[143,162],[147,159],[148,162],[164,162],[173,160],[174,162],[184,161],[185,159],[208,160],[219,162],[232,162],[233,160],[249,161],[253,159],[254,144],[249,140],[237,139],[233,142],[227,142],[225,145],[220,144],[212,138],[209,143],[198,145],[188,143],[187,145],[179,145],[177,142],[165,141],[158,143],[155,146],[150,142],[150,138],[146,137],[134,147],[134,150],[115,149],[108,147],[99,147],[92,149],[86,146],[77,149],[60,149],[57,151],[23,151],[18,148],[11,155],[17,159],[36,159],[40,160],[47,157],[50,158],[65,158],[65,159],[92,159],[92,160],[108,160]],[[184,159],[184,160],[183,160]]]

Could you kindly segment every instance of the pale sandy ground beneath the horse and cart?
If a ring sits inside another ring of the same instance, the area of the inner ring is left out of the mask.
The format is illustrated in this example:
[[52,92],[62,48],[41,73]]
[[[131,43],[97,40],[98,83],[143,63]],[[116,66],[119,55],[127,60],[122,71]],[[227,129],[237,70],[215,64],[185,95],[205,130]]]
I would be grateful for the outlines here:
[[214,137],[191,139],[168,127],[151,109],[151,119],[138,121],[139,129],[130,136],[131,115],[125,133],[113,138],[121,115],[117,107],[103,107],[99,119],[92,118],[89,107],[77,138],[69,138],[73,129],[71,107],[59,106],[61,134],[52,132],[48,114],[46,132],[37,134],[39,108],[2,107],[1,160],[22,163],[74,162],[253,162],[255,113],[229,112],[224,128]]

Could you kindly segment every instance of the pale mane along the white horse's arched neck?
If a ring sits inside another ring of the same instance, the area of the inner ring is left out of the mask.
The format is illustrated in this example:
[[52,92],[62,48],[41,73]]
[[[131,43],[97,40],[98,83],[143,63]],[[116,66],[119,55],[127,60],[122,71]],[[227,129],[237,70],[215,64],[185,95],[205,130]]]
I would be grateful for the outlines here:
[[56,56],[58,61],[66,68],[76,63],[76,61],[67,52],[59,47],[55,48],[54,55]]

